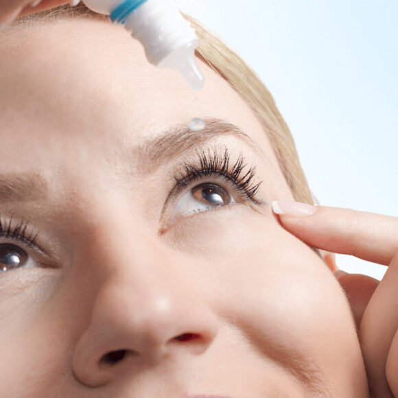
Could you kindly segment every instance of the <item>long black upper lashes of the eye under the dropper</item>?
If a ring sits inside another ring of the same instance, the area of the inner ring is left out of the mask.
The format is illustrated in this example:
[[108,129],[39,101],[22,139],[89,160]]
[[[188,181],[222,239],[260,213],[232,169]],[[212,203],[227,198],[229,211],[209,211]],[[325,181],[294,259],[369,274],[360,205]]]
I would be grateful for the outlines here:
[[194,183],[196,180],[201,180],[204,177],[222,177],[233,184],[237,192],[242,195],[241,199],[246,202],[250,200],[255,204],[262,204],[263,202],[257,199],[257,191],[262,181],[254,183],[255,180],[255,166],[250,166],[247,172],[247,163],[242,154],[239,155],[237,161],[231,166],[231,156],[228,149],[224,154],[217,152],[215,148],[207,152],[196,152],[198,155],[198,162],[185,163],[183,165],[183,172],[178,176],[174,176],[176,187],[174,188],[174,196],[178,195],[183,189]]

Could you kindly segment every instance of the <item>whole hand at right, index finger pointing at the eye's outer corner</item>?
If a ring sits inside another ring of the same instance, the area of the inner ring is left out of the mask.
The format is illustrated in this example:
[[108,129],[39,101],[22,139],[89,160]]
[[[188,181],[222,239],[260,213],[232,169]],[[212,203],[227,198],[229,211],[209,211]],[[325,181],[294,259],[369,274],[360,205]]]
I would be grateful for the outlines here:
[[398,397],[398,218],[274,202],[283,227],[309,246],[388,266],[382,281],[336,272],[347,292],[375,397]]

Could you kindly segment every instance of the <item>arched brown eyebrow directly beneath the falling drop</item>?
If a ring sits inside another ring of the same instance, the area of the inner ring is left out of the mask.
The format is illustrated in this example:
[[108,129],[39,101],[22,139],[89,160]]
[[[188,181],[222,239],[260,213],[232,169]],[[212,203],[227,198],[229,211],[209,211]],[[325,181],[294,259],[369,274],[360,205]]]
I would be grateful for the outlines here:
[[143,175],[155,172],[161,165],[176,159],[181,154],[202,145],[207,141],[229,135],[242,139],[265,159],[268,156],[259,144],[234,124],[222,119],[204,118],[203,130],[193,131],[188,124],[178,124],[133,149],[137,158],[137,167]]

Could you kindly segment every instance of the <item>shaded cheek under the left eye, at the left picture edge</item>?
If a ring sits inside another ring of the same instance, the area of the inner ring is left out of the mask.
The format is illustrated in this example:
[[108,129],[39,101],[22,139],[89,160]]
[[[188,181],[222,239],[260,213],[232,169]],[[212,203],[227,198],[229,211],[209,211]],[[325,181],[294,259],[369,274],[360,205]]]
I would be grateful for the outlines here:
[[23,397],[27,390],[45,396],[67,358],[57,312],[49,305],[60,275],[40,268],[13,272],[0,281],[0,396]]

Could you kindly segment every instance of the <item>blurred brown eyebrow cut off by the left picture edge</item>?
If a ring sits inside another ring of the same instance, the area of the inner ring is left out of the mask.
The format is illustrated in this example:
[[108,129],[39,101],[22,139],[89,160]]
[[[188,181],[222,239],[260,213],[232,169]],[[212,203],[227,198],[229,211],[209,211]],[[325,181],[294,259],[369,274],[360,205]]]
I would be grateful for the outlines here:
[[0,202],[28,202],[47,196],[47,182],[40,174],[0,174]]

